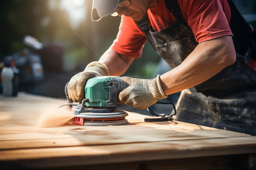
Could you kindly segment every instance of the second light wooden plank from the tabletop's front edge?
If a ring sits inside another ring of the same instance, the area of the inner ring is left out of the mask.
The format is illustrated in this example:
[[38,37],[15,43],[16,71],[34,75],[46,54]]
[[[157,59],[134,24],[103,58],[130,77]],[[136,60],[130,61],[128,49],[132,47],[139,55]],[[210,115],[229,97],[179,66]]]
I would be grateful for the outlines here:
[[163,142],[182,141],[192,139],[213,139],[226,137],[249,136],[240,133],[229,133],[224,131],[207,132],[184,132],[176,133],[171,129],[163,130],[157,128],[144,128],[139,133],[134,129],[123,130],[91,130],[91,131],[66,131],[66,132],[44,132],[44,133],[22,133],[0,135],[0,149],[15,148],[37,148],[37,147],[65,147],[79,145],[121,144],[137,142]]

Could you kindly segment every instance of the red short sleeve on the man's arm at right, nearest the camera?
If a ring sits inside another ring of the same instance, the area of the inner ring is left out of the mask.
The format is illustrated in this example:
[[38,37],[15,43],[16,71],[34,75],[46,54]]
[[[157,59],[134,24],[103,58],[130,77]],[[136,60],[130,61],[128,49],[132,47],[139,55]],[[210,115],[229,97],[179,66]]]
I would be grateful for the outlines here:
[[197,42],[233,36],[220,0],[180,0],[179,5]]

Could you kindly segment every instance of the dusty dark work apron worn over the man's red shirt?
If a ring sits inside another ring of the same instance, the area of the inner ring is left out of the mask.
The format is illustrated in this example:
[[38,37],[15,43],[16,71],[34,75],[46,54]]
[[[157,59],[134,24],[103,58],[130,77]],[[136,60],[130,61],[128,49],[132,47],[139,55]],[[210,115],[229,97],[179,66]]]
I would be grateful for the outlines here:
[[[158,32],[145,28],[145,22],[137,22],[171,68],[181,64],[198,45],[179,14],[173,15],[178,22]],[[247,50],[244,56],[236,53],[234,64],[209,80],[183,90],[176,105],[175,120],[256,135],[256,71],[247,64],[251,52]]]

